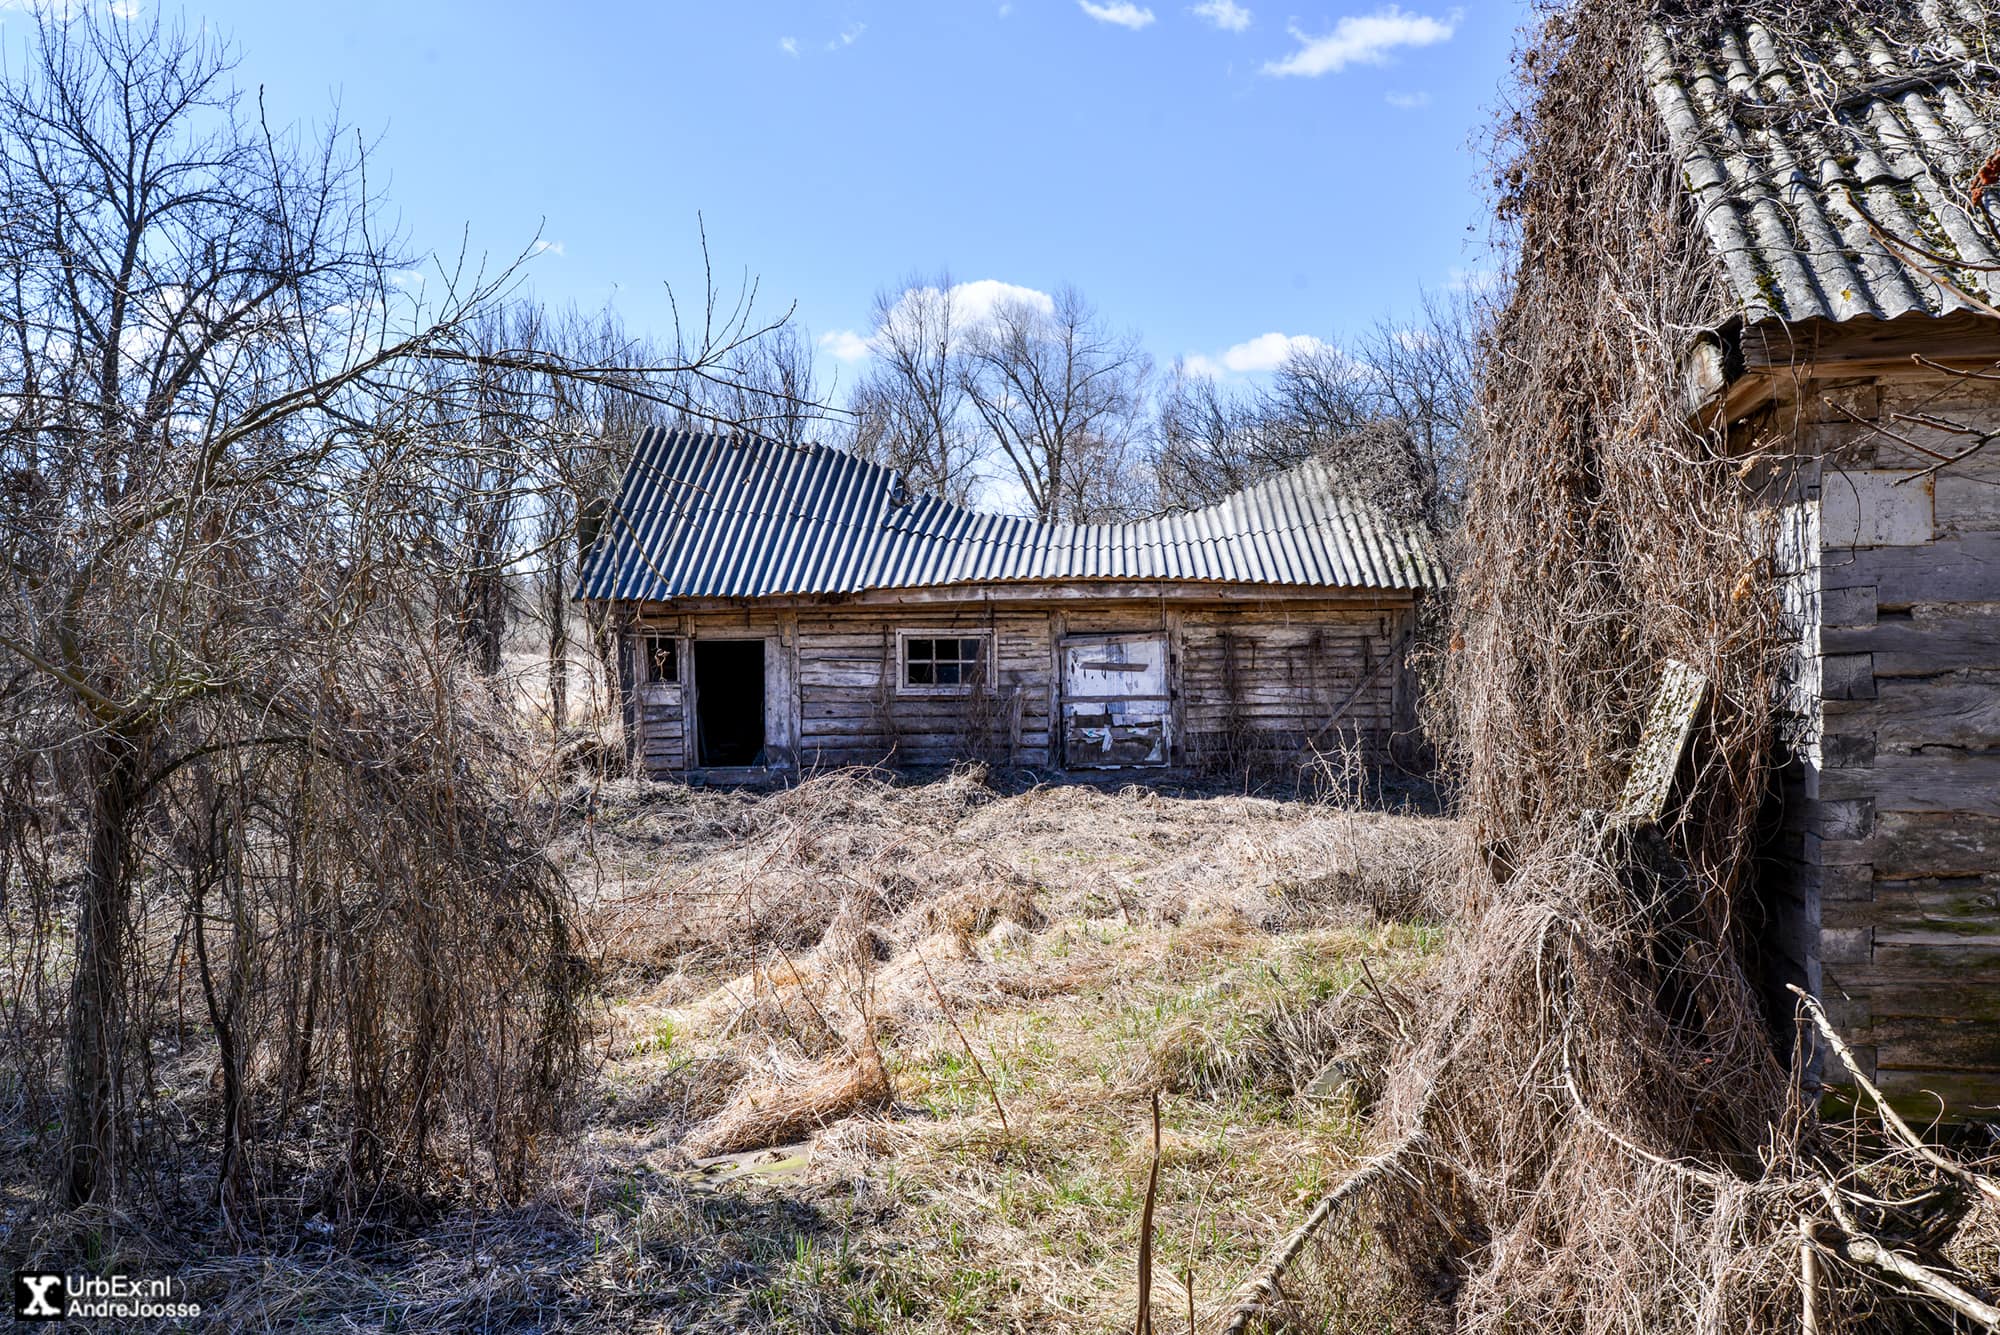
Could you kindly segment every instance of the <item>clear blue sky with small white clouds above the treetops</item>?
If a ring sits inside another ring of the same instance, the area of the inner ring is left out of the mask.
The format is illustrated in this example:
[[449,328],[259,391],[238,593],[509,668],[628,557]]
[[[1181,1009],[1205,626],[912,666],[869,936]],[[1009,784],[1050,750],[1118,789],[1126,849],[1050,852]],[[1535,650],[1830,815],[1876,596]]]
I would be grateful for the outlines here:
[[[1476,144],[1522,0],[206,0],[274,114],[380,134],[418,250],[664,332],[718,272],[858,348],[876,288],[1076,284],[1166,366],[1250,368],[1486,266]],[[20,28],[10,16],[14,34]],[[1252,346],[1242,352],[1242,346]],[[1230,350],[1238,352],[1230,356]]]

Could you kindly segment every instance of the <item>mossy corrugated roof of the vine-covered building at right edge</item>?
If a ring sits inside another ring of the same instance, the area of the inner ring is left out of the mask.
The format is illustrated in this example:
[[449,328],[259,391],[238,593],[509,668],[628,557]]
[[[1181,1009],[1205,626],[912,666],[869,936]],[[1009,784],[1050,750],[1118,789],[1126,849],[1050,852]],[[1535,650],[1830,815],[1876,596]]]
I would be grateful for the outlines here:
[[1968,202],[2000,146],[1994,48],[1976,0],[1932,0],[1894,44],[1874,28],[1808,40],[1762,22],[1700,44],[1648,32],[1654,104],[1750,322],[1968,308],[1930,272],[1994,300],[1992,270],[1974,266],[2000,264],[2000,192]]

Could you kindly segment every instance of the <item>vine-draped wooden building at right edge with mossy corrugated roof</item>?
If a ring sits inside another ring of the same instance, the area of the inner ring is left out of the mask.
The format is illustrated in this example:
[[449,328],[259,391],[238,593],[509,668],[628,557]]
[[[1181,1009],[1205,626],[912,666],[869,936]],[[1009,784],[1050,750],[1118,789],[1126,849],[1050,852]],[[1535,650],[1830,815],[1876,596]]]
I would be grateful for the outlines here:
[[[1754,8],[1754,6],[1752,6]],[[1652,100],[1738,314],[1692,408],[1784,454],[1798,673],[1768,897],[1776,981],[1894,1095],[2000,1105],[1996,34],[1650,34]],[[1782,54],[1788,52],[1788,54]],[[1810,64],[1810,68],[1806,68]],[[1976,110],[1976,108],[1984,108]],[[1928,1093],[1926,1093],[1928,1091]],[[1936,1103],[1930,1103],[1934,1109]]]

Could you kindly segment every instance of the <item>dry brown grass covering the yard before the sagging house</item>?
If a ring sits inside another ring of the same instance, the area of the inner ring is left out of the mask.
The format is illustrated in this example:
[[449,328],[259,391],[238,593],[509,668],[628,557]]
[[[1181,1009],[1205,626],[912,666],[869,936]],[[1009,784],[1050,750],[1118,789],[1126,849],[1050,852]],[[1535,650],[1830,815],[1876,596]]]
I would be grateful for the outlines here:
[[1190,1281],[1220,1311],[1362,1153],[1442,939],[1376,909],[1436,903],[1456,837],[980,771],[568,805],[608,1005],[548,1189],[124,1231],[108,1263],[182,1273],[226,1329],[1100,1331],[1132,1311],[1158,1089],[1178,1329]]

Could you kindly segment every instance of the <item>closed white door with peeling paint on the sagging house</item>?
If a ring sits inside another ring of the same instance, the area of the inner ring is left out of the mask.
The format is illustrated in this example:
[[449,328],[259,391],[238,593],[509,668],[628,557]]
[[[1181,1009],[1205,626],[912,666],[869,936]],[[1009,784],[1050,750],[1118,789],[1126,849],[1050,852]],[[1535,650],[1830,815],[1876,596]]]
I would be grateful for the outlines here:
[[1172,705],[1164,632],[1064,638],[1062,763],[1072,769],[1168,763]]

